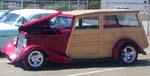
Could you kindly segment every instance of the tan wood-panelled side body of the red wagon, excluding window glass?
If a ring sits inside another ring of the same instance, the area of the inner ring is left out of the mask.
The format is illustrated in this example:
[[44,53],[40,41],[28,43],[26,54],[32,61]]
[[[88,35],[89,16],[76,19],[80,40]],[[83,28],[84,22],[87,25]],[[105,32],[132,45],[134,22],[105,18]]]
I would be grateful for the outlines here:
[[[134,40],[141,48],[146,48],[148,43],[140,20],[138,20],[139,27],[103,28],[103,15],[127,13],[136,14],[137,12],[92,13],[92,15],[99,16],[99,29],[81,30],[76,29],[74,26],[67,46],[67,55],[73,59],[112,57],[112,48],[122,38]],[[89,15],[76,16],[75,23],[79,18]]]

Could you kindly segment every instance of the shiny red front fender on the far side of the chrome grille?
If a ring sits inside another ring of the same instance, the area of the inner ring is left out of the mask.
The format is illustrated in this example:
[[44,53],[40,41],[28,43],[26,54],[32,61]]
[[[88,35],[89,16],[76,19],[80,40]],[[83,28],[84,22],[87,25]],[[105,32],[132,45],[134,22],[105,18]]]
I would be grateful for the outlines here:
[[17,59],[16,49],[17,47],[14,45],[13,41],[9,41],[2,48],[2,53],[7,56],[10,62],[15,62]]

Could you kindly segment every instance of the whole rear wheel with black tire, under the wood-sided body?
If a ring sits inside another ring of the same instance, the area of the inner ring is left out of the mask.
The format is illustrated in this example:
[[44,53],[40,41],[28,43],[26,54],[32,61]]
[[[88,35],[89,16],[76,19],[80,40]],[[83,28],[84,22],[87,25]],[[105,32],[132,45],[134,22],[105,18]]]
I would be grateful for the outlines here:
[[137,61],[138,50],[133,45],[125,45],[121,48],[119,61],[123,64],[133,64]]

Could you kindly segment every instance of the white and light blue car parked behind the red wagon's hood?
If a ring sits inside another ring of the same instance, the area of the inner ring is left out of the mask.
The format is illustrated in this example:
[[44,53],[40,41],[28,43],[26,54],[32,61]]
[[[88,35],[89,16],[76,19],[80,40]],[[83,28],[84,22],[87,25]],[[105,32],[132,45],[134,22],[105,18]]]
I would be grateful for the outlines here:
[[0,49],[7,41],[19,34],[18,27],[22,24],[56,12],[44,9],[22,9],[9,12],[0,20]]

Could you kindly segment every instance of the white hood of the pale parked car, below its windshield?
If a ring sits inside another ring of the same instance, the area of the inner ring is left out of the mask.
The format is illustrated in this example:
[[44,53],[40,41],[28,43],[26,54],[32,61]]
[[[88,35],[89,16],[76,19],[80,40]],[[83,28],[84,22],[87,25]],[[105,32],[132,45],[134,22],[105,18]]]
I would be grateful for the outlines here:
[[0,23],[0,31],[2,30],[18,30],[18,27],[6,23]]

